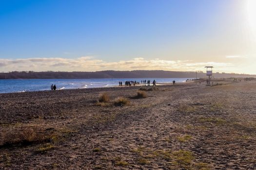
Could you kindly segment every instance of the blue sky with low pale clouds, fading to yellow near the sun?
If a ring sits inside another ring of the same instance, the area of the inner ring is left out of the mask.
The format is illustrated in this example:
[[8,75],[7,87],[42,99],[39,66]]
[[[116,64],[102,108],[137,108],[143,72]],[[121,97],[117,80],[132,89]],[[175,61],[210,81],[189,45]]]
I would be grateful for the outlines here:
[[[148,69],[213,64],[219,71],[253,73],[245,66],[255,57],[256,27],[248,26],[245,1],[0,0],[0,71],[130,70],[148,62]],[[40,67],[33,58],[56,62]]]

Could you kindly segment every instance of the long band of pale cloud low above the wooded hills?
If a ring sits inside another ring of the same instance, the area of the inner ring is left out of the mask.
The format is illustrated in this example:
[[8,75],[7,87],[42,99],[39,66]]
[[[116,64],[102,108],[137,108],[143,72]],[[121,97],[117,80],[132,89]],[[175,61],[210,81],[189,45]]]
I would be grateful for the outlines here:
[[26,59],[0,59],[0,71],[97,71],[97,70],[176,70],[194,71],[204,70],[205,66],[214,66],[218,70],[232,70],[232,63],[218,62],[193,62],[191,60],[162,60],[144,58],[133,58],[131,60],[120,60],[117,62],[106,62],[95,59],[92,56],[79,58],[26,58]]

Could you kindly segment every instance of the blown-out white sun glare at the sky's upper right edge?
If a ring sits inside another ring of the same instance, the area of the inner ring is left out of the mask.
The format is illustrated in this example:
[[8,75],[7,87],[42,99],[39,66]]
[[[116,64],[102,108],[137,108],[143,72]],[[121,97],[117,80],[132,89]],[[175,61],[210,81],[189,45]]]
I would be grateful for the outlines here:
[[247,0],[247,17],[256,41],[256,0]]

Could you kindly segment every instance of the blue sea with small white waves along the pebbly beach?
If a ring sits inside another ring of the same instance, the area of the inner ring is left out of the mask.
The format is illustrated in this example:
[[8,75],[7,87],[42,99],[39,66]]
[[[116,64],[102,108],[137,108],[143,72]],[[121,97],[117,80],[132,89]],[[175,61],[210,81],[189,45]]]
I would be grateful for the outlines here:
[[[185,82],[187,78],[168,78],[155,79],[157,83],[171,83],[173,80]],[[26,92],[50,90],[50,86],[56,85],[58,89],[75,89],[75,88],[95,88],[95,87],[111,87],[119,85],[118,82],[124,84],[125,81],[150,80],[152,83],[154,78],[136,78],[136,79],[12,79],[0,80],[0,93]]]

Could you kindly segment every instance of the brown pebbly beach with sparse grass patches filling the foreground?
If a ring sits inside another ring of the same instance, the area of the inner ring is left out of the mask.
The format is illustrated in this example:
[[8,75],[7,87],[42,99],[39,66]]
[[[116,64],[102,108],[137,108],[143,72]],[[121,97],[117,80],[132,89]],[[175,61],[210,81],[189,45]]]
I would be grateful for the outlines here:
[[151,87],[0,94],[0,170],[256,169],[256,81]]

